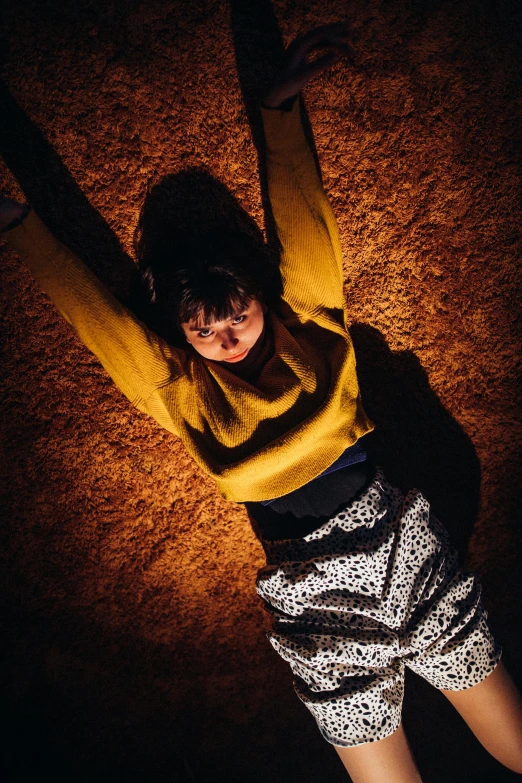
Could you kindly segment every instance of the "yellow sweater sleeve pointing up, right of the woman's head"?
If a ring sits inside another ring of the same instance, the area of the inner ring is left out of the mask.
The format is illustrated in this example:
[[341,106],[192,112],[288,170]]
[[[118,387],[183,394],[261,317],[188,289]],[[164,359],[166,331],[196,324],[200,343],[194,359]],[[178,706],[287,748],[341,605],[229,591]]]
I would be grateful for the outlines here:
[[339,232],[299,112],[262,108],[268,193],[282,245],[283,298],[294,312],[343,309]]

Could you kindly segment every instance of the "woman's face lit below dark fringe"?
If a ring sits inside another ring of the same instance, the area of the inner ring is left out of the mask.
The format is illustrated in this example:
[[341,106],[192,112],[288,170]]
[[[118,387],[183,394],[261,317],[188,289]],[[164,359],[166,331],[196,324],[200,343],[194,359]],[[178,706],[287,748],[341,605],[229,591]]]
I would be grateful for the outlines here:
[[203,324],[191,320],[181,324],[187,342],[205,359],[233,363],[246,359],[261,340],[265,328],[266,305],[251,299],[244,309],[224,321]]

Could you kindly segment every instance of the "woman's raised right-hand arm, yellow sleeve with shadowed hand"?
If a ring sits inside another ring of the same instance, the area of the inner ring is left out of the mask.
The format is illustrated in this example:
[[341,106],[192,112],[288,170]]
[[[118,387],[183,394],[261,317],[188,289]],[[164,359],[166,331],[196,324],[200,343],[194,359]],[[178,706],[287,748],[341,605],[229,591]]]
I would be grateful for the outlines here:
[[352,55],[347,35],[346,25],[327,25],[294,41],[262,107],[268,192],[282,245],[283,298],[301,315],[344,307],[337,222],[295,98],[310,79]]

